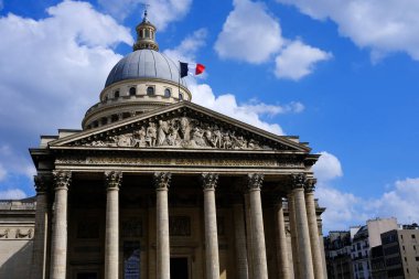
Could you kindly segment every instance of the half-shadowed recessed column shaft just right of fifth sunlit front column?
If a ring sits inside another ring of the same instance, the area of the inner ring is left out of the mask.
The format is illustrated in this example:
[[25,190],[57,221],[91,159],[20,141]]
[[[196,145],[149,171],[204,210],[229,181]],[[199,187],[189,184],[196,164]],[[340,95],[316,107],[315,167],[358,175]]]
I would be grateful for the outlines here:
[[279,278],[291,279],[289,270],[290,267],[288,262],[287,232],[286,222],[283,219],[282,198],[280,198],[280,201],[278,202],[276,217]]

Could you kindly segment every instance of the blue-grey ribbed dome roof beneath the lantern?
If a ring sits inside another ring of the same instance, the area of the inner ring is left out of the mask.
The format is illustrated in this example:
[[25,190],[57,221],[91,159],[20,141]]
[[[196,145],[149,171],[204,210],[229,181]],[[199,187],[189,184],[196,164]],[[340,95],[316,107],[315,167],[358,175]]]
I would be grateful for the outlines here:
[[[185,82],[179,78],[179,65],[166,55],[153,50],[138,50],[120,60],[110,71],[105,87],[127,79],[159,78],[173,83]],[[179,81],[180,79],[180,81]]]

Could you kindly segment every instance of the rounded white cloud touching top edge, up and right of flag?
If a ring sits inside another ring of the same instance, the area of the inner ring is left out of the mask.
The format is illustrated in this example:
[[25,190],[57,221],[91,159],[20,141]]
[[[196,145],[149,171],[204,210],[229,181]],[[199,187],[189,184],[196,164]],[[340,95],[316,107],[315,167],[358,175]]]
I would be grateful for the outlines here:
[[223,58],[259,64],[282,46],[281,28],[261,2],[235,0],[215,43]]

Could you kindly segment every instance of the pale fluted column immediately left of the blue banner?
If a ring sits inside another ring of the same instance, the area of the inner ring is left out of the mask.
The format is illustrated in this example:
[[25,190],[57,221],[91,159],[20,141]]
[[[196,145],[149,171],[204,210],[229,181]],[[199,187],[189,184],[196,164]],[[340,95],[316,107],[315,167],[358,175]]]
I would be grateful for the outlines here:
[[105,172],[106,181],[106,232],[105,232],[105,279],[119,276],[119,187],[122,173]]

